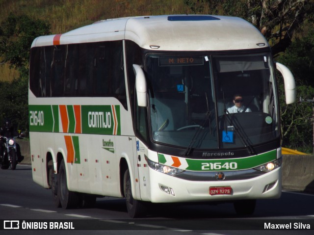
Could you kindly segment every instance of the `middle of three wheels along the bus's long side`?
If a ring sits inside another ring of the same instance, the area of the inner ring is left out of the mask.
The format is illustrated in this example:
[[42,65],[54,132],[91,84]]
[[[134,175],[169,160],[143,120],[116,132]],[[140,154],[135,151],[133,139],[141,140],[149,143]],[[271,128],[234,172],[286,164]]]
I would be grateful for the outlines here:
[[78,194],[69,191],[67,185],[67,175],[65,170],[65,163],[62,159],[58,174],[58,194],[60,197],[61,207],[63,209],[71,209],[78,207]]

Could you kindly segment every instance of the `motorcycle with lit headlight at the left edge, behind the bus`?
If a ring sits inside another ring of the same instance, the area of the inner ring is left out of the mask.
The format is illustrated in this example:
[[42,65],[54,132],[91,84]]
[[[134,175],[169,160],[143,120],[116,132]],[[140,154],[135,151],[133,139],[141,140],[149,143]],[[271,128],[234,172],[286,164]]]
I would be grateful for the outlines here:
[[1,136],[3,144],[3,153],[0,155],[0,166],[1,169],[8,169],[11,166],[12,170],[15,170],[16,165],[18,164],[18,156],[17,156],[17,147],[16,147],[16,138],[20,138],[19,136],[15,137],[6,137]]

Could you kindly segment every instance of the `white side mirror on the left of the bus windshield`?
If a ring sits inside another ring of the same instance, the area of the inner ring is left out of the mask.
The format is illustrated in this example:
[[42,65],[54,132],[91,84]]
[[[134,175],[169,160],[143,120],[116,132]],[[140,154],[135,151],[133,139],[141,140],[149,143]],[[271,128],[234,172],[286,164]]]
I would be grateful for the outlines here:
[[147,106],[147,84],[146,78],[142,68],[137,65],[133,64],[133,71],[135,74],[135,89],[137,95],[137,104],[141,107]]

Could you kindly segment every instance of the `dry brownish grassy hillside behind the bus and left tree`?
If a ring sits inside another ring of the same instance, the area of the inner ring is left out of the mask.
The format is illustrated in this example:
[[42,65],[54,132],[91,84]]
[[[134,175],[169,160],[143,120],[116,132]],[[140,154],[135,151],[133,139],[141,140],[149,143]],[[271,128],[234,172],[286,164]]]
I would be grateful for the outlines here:
[[[190,13],[183,0],[0,0],[0,22],[10,12],[46,20],[52,34],[111,18]],[[0,80],[18,76],[8,65],[0,65]]]

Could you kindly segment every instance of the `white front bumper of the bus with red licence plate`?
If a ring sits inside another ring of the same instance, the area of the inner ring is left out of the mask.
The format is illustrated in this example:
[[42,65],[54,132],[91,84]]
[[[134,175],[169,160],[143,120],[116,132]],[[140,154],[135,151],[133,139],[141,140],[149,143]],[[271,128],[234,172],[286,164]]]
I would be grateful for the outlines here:
[[[282,189],[282,168],[247,180],[189,181],[149,169],[149,198],[153,203],[233,201],[245,199],[279,198]],[[230,189],[210,194],[209,188]],[[222,193],[222,194],[221,194]]]

